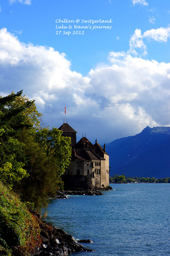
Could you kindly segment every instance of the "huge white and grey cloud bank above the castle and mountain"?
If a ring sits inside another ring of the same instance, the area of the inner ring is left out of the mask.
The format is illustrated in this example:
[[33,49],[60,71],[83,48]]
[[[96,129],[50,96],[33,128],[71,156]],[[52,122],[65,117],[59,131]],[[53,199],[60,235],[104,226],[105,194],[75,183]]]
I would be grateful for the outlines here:
[[[140,31],[136,31],[139,40]],[[0,30],[0,95],[24,90],[36,99],[42,122],[59,127],[64,108],[77,138],[82,133],[100,144],[135,135],[149,125],[169,125],[170,64],[110,52],[110,65],[87,77],[71,71],[65,54],[21,43]]]

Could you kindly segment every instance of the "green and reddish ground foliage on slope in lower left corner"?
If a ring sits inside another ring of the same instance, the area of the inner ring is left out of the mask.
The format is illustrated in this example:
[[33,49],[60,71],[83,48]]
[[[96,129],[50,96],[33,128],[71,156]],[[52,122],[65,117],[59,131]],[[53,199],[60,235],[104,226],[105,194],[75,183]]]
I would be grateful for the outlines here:
[[28,256],[41,243],[39,220],[2,183],[0,188],[0,252]]

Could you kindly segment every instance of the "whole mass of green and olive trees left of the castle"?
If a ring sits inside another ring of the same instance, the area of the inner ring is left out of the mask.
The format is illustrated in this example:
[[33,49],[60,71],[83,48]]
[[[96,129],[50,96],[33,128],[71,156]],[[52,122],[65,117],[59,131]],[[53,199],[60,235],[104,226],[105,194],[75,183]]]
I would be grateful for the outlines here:
[[23,201],[46,207],[70,164],[70,138],[40,126],[42,114],[22,91],[0,97],[0,180]]

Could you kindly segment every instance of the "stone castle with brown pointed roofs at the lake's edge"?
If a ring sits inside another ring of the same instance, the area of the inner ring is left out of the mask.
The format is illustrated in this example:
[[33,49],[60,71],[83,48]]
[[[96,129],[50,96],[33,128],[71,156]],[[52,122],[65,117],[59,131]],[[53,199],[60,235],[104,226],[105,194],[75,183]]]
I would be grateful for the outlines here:
[[72,155],[69,167],[62,175],[65,187],[97,189],[109,186],[109,155],[97,143],[93,145],[87,138],[82,137],[76,143],[76,131],[63,123],[59,130],[62,136],[71,137]]

